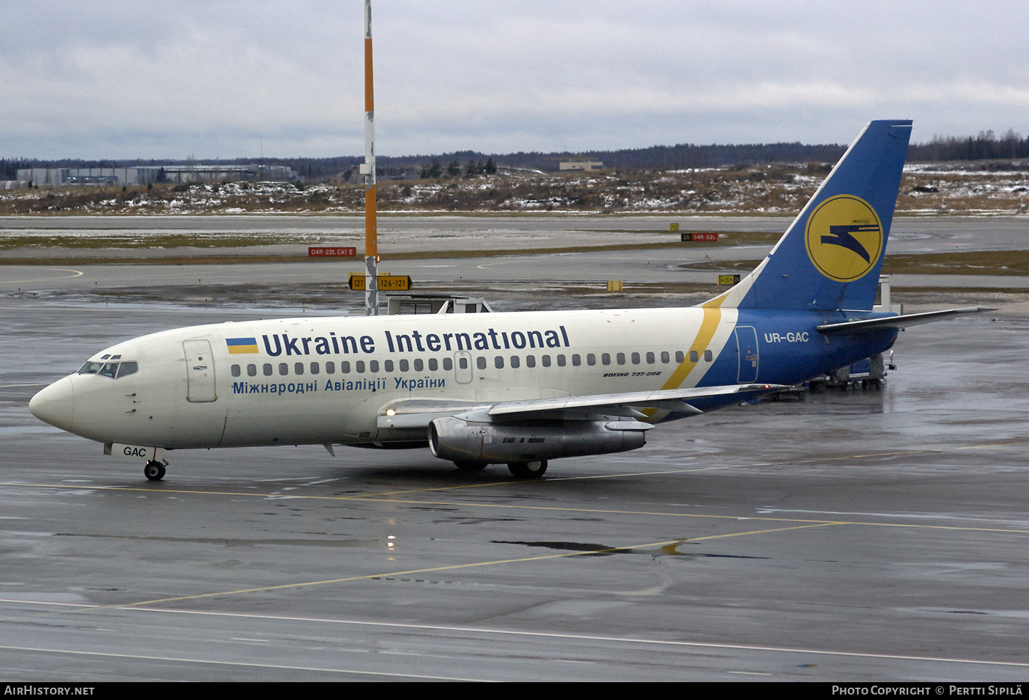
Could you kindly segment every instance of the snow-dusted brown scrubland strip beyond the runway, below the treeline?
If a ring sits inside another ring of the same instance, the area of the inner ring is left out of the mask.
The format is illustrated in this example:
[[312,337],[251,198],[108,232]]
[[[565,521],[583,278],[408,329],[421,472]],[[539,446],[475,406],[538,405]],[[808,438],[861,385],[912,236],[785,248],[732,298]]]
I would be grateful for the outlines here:
[[[761,214],[791,216],[817,189],[822,169],[771,163],[675,171],[497,174],[478,178],[383,181],[383,212]],[[363,185],[205,183],[120,187],[44,186],[0,192],[0,215],[44,214],[356,214]],[[897,211],[1029,213],[1029,174],[906,173]]]

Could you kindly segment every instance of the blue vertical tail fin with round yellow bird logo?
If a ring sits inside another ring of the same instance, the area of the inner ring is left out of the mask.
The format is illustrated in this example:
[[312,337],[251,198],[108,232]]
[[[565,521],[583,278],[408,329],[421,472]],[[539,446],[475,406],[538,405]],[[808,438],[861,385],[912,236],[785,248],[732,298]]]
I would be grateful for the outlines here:
[[871,310],[911,121],[872,121],[765,261],[722,307]]

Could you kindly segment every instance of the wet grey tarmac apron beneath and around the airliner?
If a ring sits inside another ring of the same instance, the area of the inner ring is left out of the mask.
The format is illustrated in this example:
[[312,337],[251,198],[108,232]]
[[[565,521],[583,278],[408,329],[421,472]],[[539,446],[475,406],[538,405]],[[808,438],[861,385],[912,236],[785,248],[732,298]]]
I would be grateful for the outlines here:
[[26,408],[114,339],[272,312],[0,297],[0,675],[1029,673],[1025,318],[913,328],[882,391],[728,408],[536,482],[281,447],[173,452],[153,483]]

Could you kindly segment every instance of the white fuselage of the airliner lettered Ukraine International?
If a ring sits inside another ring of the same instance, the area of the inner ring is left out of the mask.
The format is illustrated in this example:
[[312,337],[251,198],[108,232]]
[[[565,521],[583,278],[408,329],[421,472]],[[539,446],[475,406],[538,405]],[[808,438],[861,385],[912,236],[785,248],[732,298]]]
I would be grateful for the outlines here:
[[[133,374],[75,374],[56,383],[73,394],[70,425],[60,427],[101,442],[168,448],[389,442],[400,436],[377,418],[397,400],[497,402],[698,385],[733,337],[736,317],[736,309],[686,307],[182,328],[94,358],[137,362]],[[241,338],[255,342],[227,344]]]

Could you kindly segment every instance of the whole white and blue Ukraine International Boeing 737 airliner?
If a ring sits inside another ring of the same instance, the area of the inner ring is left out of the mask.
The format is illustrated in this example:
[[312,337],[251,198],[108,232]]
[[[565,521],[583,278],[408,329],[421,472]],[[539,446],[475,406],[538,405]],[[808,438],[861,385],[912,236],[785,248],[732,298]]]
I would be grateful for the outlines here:
[[878,355],[899,329],[991,310],[873,311],[910,120],[870,122],[761,263],[697,306],[282,319],[125,340],[32,413],[145,459],[255,445],[425,448],[462,471],[632,450],[657,423]]

